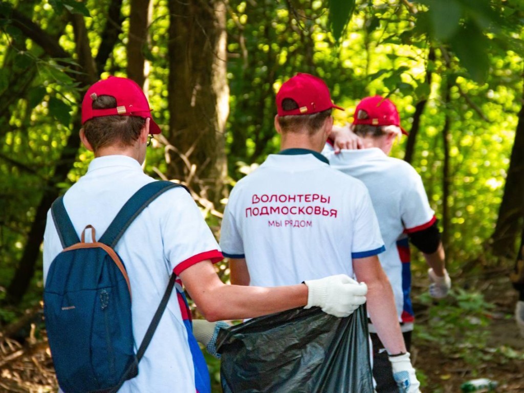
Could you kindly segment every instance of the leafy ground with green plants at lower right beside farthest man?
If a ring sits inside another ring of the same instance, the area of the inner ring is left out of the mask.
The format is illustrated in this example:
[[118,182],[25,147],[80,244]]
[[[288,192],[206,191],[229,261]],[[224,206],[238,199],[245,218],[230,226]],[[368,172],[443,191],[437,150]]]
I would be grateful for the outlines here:
[[517,292],[509,271],[492,269],[458,281],[438,303],[421,294],[412,350],[424,392],[458,393],[471,379],[524,392],[524,337],[514,319]]

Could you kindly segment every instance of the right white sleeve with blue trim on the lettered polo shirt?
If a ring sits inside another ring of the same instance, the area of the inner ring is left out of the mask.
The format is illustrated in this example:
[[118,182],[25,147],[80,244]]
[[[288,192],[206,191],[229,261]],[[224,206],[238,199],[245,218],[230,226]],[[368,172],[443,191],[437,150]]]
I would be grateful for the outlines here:
[[362,196],[356,204],[353,228],[352,258],[365,258],[383,253],[384,241],[380,235],[377,216],[373,209],[367,188],[363,187]]

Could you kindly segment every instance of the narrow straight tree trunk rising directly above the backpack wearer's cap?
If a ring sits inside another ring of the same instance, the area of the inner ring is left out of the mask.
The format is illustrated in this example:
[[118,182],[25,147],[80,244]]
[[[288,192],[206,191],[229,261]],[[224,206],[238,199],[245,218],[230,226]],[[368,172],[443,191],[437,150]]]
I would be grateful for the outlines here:
[[127,77],[138,83],[145,91],[148,63],[145,52],[148,42],[148,26],[152,15],[150,0],[131,0],[129,13],[129,37],[127,41]]

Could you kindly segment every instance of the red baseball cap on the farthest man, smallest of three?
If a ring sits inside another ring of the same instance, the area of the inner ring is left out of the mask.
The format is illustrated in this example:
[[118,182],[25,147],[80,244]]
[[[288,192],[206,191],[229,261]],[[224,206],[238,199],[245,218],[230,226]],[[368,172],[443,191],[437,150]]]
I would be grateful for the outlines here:
[[[358,118],[358,112],[364,111],[367,117]],[[400,126],[400,116],[397,107],[387,98],[380,95],[366,97],[358,103],[353,115],[353,124],[369,124],[372,126],[397,126],[402,130],[402,134],[408,135],[405,129]]]

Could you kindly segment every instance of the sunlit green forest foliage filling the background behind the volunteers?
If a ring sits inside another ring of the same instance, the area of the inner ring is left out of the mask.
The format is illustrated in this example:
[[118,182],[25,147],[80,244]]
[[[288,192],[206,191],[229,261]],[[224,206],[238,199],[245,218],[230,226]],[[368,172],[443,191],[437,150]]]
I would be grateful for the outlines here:
[[[148,174],[169,178],[176,131],[199,135],[195,146],[205,139],[191,124],[181,130],[170,122],[175,113],[169,109],[169,94],[177,94],[176,84],[166,87],[177,80],[170,67],[185,59],[169,52],[170,40],[189,45],[192,37],[170,37],[169,24],[198,21],[203,10],[217,15],[208,8],[220,4],[225,6],[221,17],[227,43],[225,58],[218,60],[228,89],[221,110],[228,116],[223,135],[220,130],[208,134],[224,141],[219,156],[226,159],[227,174],[219,180],[227,187],[217,194],[226,195],[239,178],[279,150],[273,128],[276,91],[294,73],[309,72],[323,78],[334,102],[346,108],[334,114],[336,123],[351,122],[355,104],[366,95],[382,94],[397,104],[410,135],[398,141],[392,154],[411,162],[422,176],[443,230],[452,276],[465,277],[498,261],[484,255],[500,239],[504,246],[495,254],[515,255],[524,186],[510,179],[524,174],[524,1],[195,1],[179,19],[170,13],[172,2],[152,1],[145,39],[136,44],[145,59],[141,65],[154,117],[165,134],[148,150]],[[133,7],[132,0],[0,2],[4,321],[41,299],[45,213],[92,158],[77,137],[79,103],[90,83],[126,75],[136,61],[128,56],[136,33],[130,26]],[[176,76],[192,81],[205,78],[202,72],[195,64],[191,73]],[[194,89],[195,96],[206,100],[208,91],[198,91],[197,83]],[[191,185],[204,165],[189,162],[189,172],[178,180]],[[226,199],[206,203],[205,189],[195,187],[193,196],[218,236]],[[503,260],[500,266],[509,271],[511,262]],[[227,279],[225,265],[222,273]]]

